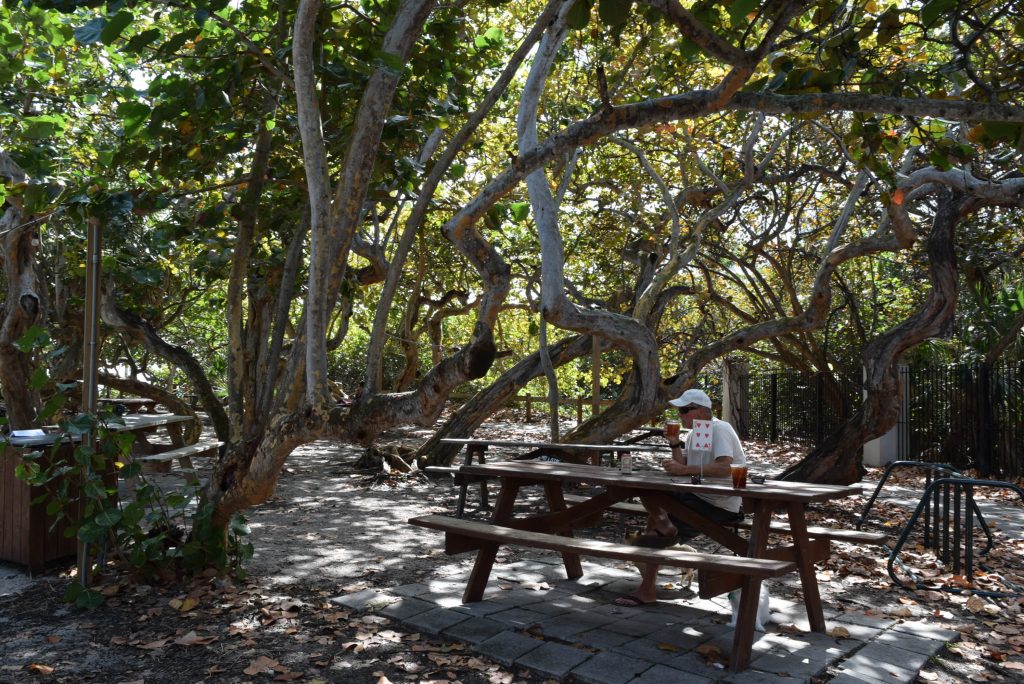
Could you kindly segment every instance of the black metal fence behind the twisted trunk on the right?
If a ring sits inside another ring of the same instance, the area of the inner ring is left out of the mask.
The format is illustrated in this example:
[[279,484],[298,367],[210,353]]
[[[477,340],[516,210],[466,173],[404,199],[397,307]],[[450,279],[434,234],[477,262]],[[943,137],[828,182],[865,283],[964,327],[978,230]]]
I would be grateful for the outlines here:
[[[1024,361],[902,368],[897,459],[1024,475]],[[750,432],[819,444],[860,405],[854,374],[751,375]]]

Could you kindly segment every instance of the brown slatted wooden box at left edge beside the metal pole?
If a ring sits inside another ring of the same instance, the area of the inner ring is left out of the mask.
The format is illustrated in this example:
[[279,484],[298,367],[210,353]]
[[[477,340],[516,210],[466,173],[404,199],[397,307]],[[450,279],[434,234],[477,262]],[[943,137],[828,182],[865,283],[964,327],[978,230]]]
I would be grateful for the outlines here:
[[[46,456],[41,465],[46,467],[51,458]],[[70,459],[71,444],[57,452],[57,458]],[[0,453],[0,560],[19,563],[30,572],[39,572],[56,560],[74,558],[78,553],[78,540],[65,537],[65,521],[51,525],[53,519],[46,515],[46,504],[33,505],[32,501],[45,493],[45,487],[29,486],[14,476],[14,468],[22,462],[25,450],[7,445]],[[103,477],[108,486],[117,483],[117,472]]]

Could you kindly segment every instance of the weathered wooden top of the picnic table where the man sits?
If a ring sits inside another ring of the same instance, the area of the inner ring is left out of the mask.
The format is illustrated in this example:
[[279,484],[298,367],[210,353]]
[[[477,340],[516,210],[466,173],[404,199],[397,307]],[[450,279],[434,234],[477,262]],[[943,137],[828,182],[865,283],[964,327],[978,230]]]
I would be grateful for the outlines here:
[[766,480],[764,484],[748,481],[746,487],[736,489],[728,478],[706,479],[700,484],[690,482],[689,476],[672,476],[663,471],[633,471],[625,473],[615,468],[550,461],[513,461],[465,465],[460,473],[487,477],[517,477],[530,480],[560,480],[588,483],[605,487],[624,487],[660,491],[690,491],[768,501],[812,503],[843,499],[861,494],[859,484],[836,485],[813,482]]

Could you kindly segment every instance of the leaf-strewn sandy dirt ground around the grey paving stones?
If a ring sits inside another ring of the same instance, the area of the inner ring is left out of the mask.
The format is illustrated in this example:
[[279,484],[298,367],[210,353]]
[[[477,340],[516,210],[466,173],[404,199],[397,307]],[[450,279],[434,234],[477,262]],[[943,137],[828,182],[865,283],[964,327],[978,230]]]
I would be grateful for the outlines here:
[[[487,433],[539,438],[544,426],[503,423]],[[384,442],[419,443],[429,434],[410,430]],[[318,442],[290,458],[275,496],[249,512],[256,553],[245,580],[200,578],[187,587],[112,582],[106,603],[86,611],[62,601],[71,568],[26,583],[16,568],[0,565],[0,682],[546,681],[332,602],[367,588],[428,581],[471,560],[444,556],[437,536],[406,523],[452,512],[457,489],[450,482],[382,476],[360,468],[362,453]],[[793,458],[778,451],[757,456]],[[906,593],[893,591],[887,579],[854,584],[845,586],[846,599],[906,609]],[[955,607],[945,605],[945,595],[931,600],[943,605],[926,610]],[[927,600],[909,601],[919,602]],[[971,617],[964,610],[948,614],[953,629]],[[979,666],[978,657],[950,650],[921,681],[1015,679],[998,662],[980,659]]]

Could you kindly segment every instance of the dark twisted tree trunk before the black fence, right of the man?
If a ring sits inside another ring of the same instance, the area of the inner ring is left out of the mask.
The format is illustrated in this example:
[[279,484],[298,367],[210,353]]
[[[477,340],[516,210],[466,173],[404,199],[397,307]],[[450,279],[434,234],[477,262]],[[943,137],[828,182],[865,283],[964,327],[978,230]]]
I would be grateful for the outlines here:
[[953,228],[959,221],[964,196],[944,189],[939,194],[932,232],[928,239],[928,271],[932,290],[916,312],[876,338],[865,347],[863,408],[800,463],[787,468],[782,479],[828,484],[860,481],[860,448],[899,420],[900,386],[896,361],[930,337],[940,334],[952,320],[958,294],[953,252]]

